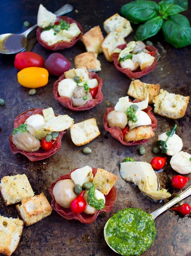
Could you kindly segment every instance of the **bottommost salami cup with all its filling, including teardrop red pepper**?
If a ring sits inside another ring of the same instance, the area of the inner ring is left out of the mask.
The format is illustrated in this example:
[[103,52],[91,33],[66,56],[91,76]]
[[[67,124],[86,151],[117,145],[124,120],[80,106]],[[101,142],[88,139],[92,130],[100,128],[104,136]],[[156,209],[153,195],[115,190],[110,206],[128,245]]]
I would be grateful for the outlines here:
[[102,212],[110,212],[117,190],[117,177],[88,165],[61,175],[49,187],[52,208],[68,220],[90,224]]

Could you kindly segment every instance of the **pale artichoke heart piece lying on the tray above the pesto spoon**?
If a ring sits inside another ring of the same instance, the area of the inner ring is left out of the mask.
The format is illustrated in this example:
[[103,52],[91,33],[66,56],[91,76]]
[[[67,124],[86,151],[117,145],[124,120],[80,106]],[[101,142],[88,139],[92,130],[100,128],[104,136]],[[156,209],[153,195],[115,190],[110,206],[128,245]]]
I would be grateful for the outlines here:
[[120,163],[121,177],[138,186],[139,190],[153,201],[166,199],[171,196],[166,189],[158,190],[157,175],[152,166],[146,162]]

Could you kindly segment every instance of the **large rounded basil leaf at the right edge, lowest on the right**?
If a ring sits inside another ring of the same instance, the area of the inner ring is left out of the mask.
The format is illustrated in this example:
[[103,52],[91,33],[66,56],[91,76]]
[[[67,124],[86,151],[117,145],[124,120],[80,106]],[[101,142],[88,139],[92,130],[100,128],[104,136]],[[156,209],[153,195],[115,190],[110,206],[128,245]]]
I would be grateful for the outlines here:
[[168,43],[175,48],[182,48],[191,44],[191,27],[189,20],[176,14],[166,20],[162,26],[162,31]]

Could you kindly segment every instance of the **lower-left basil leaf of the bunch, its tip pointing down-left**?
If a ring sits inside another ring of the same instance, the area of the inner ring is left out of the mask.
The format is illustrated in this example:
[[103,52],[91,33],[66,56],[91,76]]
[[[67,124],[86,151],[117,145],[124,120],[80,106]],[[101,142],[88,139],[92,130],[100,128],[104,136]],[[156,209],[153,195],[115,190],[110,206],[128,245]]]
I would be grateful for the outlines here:
[[136,41],[143,41],[151,36],[156,35],[163,25],[163,18],[160,16],[154,17],[138,27],[135,33]]

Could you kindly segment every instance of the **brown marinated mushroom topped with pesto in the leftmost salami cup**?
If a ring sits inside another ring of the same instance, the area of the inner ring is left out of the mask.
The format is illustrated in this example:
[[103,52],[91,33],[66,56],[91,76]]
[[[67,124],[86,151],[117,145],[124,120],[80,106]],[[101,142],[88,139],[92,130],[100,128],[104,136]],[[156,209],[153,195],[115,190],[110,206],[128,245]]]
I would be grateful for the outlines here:
[[35,138],[35,128],[29,124],[21,124],[12,135],[13,144],[26,152],[35,152],[40,148],[40,141]]

